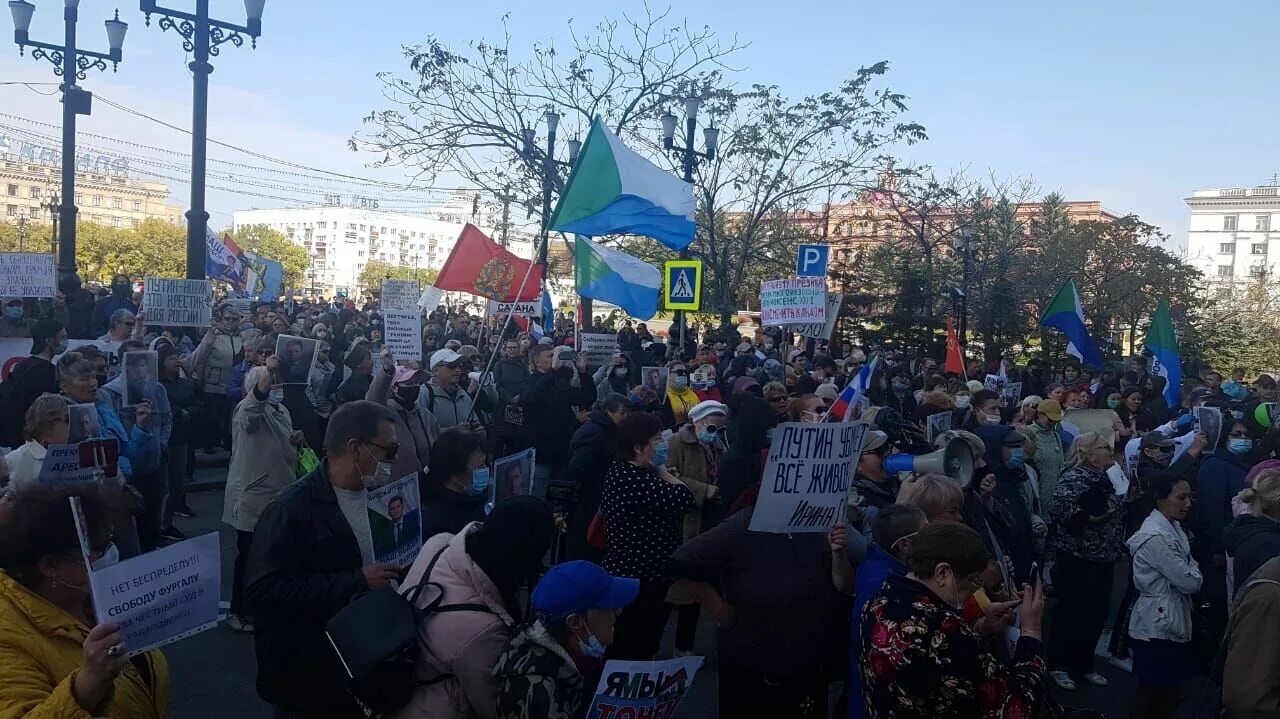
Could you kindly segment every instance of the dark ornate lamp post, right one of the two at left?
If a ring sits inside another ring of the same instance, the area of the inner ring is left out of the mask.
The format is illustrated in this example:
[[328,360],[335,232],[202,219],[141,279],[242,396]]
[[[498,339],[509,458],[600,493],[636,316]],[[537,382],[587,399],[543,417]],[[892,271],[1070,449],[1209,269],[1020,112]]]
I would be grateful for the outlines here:
[[[70,3],[72,0],[68,0]],[[140,9],[146,15],[147,27],[151,15],[159,14],[160,29],[172,29],[182,36],[182,49],[192,54],[187,65],[191,69],[193,100],[191,110],[191,209],[187,210],[187,279],[205,279],[205,257],[209,248],[205,233],[209,226],[209,211],[205,210],[205,170],[209,146],[209,75],[214,67],[210,56],[218,56],[220,46],[230,42],[236,47],[244,45],[248,36],[252,46],[262,35],[262,9],[266,0],[244,0],[243,26],[212,19],[209,17],[209,0],[196,0],[196,12],[187,13],[156,4],[156,0],[140,0]]]

